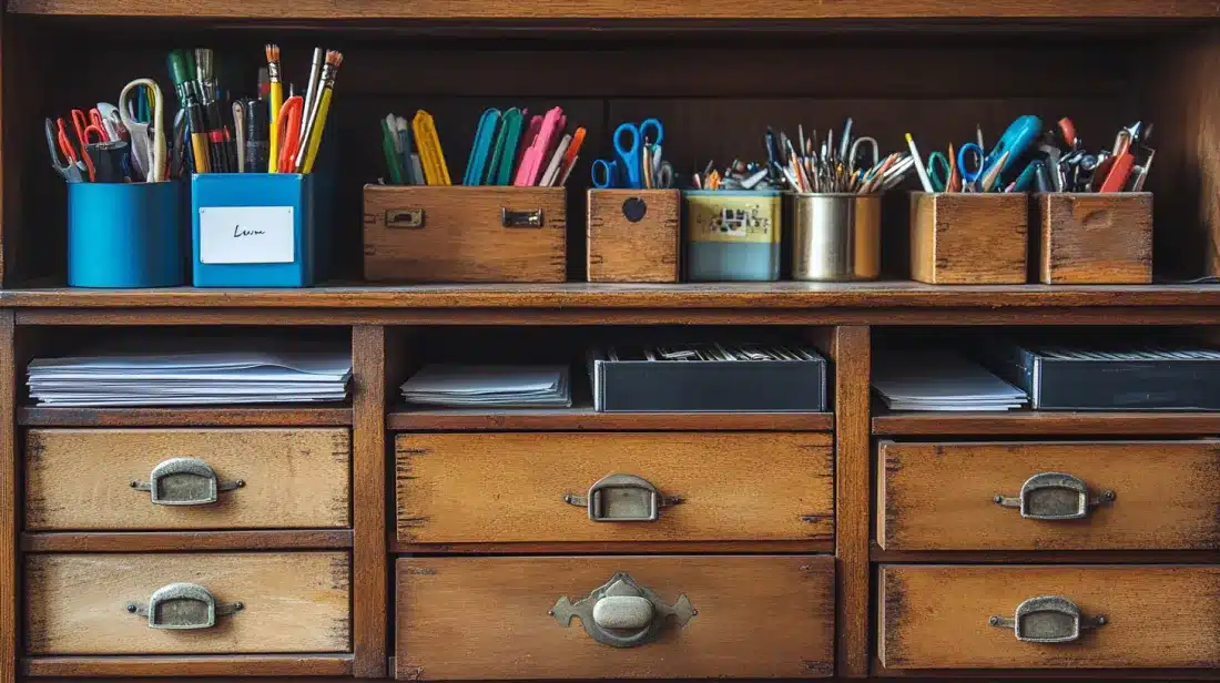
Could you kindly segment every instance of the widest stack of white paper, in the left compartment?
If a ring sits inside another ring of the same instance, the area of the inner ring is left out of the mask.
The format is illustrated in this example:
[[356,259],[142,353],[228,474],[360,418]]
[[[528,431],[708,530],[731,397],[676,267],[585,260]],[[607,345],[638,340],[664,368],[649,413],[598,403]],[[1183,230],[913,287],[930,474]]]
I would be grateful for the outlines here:
[[50,406],[342,401],[348,352],[200,351],[38,359],[29,395]]

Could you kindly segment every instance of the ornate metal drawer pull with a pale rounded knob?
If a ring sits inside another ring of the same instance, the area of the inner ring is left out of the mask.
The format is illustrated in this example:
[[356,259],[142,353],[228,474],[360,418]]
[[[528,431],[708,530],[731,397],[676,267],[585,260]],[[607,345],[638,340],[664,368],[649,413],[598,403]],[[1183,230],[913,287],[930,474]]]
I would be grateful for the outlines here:
[[565,628],[571,626],[572,617],[581,617],[584,632],[604,645],[636,648],[653,642],[669,617],[681,627],[699,612],[686,595],[678,595],[677,603],[667,605],[660,595],[636,583],[631,574],[617,572],[576,604],[566,595],[560,598],[549,613]]

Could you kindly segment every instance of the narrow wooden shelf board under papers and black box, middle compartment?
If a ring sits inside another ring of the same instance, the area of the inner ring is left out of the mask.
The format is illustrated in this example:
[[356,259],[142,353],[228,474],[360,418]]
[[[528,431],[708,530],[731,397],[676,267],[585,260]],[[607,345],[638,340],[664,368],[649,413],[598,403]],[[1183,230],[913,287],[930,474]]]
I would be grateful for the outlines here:
[[548,410],[417,410],[399,406],[386,420],[401,432],[830,432],[830,412],[594,412]]

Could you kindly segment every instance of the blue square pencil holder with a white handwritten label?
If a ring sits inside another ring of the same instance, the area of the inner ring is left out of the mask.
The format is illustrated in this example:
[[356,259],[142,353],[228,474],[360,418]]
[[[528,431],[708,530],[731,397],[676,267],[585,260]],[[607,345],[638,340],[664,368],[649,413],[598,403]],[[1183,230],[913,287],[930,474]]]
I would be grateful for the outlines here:
[[310,287],[316,278],[314,176],[192,176],[195,287]]

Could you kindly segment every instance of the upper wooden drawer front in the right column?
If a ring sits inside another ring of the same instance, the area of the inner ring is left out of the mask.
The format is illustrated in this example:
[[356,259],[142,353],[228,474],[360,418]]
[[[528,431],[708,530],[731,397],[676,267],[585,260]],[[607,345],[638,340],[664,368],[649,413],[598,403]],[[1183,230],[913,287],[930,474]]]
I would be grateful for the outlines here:
[[1220,442],[878,448],[887,550],[1220,548]]

